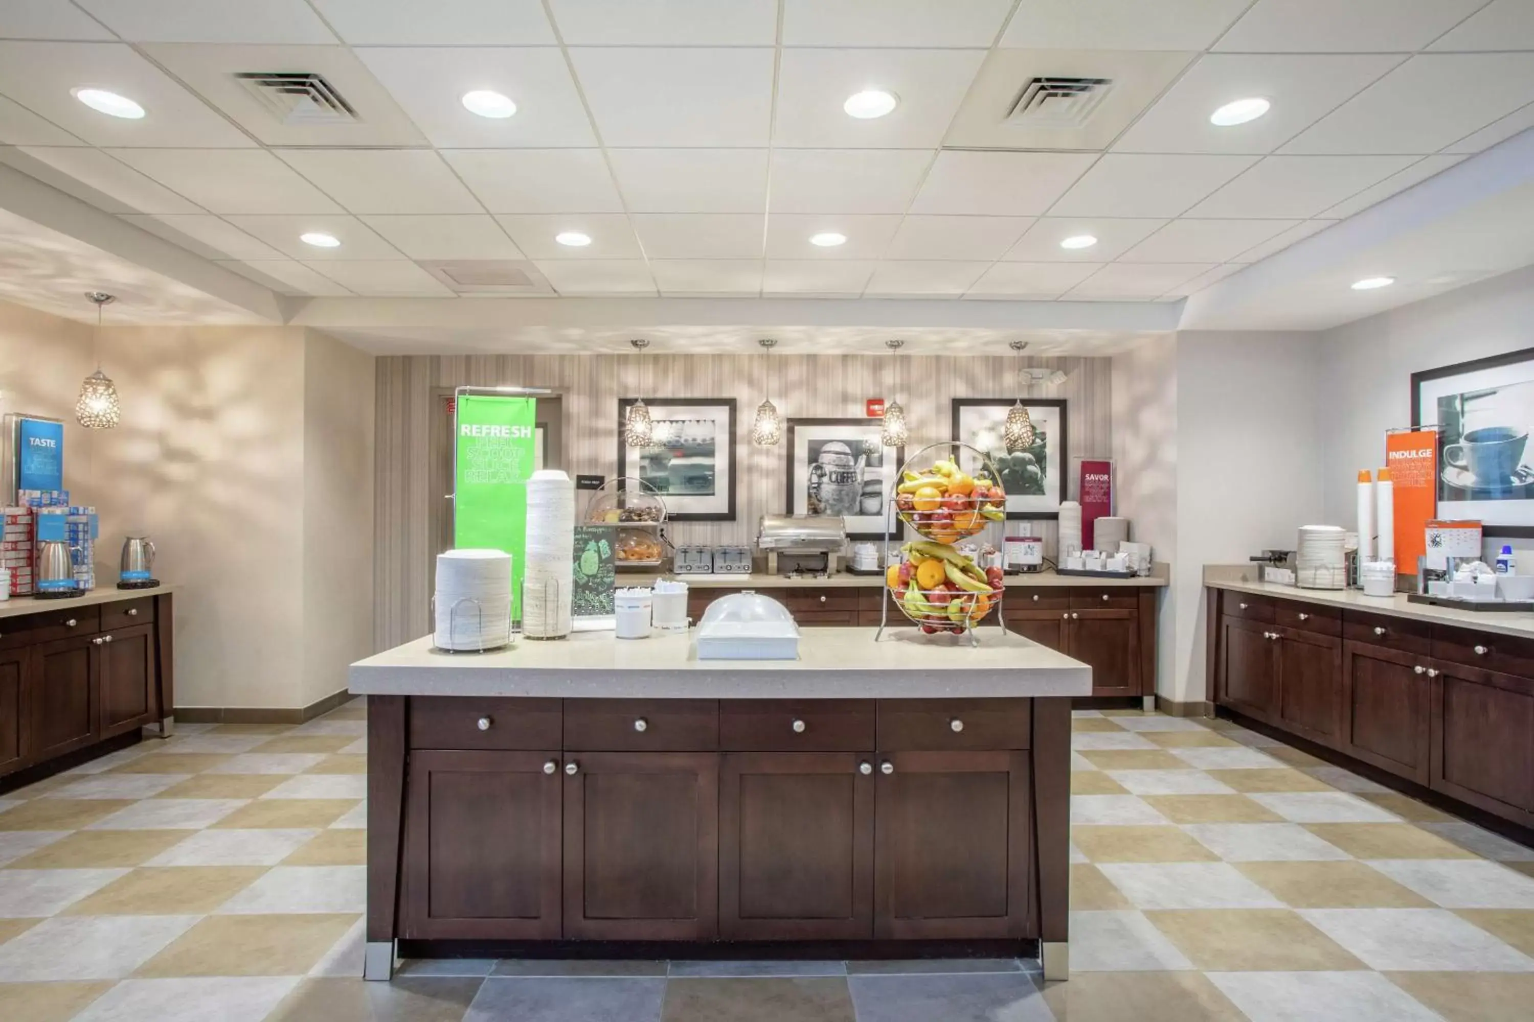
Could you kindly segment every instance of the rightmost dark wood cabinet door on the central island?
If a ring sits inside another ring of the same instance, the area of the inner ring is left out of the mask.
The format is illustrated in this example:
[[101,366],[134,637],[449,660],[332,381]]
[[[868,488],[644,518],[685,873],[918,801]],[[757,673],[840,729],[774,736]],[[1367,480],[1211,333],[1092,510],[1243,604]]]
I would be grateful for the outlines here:
[[1029,936],[1028,754],[887,752],[877,769],[874,936]]

